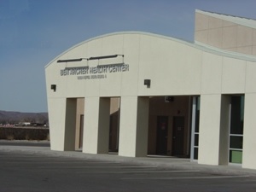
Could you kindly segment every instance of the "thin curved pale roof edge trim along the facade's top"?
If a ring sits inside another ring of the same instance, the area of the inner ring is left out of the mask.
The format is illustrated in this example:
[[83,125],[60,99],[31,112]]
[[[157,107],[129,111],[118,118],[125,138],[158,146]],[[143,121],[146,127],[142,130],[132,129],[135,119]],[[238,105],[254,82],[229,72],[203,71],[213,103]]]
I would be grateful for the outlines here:
[[101,35],[101,36],[97,36],[95,38],[89,38],[79,44],[75,44],[73,47],[67,49],[66,51],[62,52],[60,55],[56,56],[53,60],[49,61],[49,63],[45,66],[45,68],[47,68],[53,61],[57,60],[59,57],[61,57],[61,55],[66,54],[68,51],[75,49],[76,47],[79,47],[82,44],[86,44],[90,41],[96,40],[98,38],[106,38],[109,36],[113,36],[113,35],[125,35],[125,34],[137,34],[137,35],[145,35],[145,36],[151,36],[151,37],[155,37],[155,38],[164,38],[166,40],[172,40],[175,41],[179,44],[185,44],[187,46],[193,47],[195,49],[201,49],[202,51],[206,51],[215,55],[223,55],[223,56],[227,56],[227,57],[233,57],[236,59],[241,59],[241,60],[246,60],[246,61],[256,61],[256,57],[253,55],[245,55],[245,54],[240,54],[240,53],[235,53],[235,52],[231,52],[231,51],[227,51],[224,49],[217,49],[217,48],[213,48],[211,46],[208,46],[207,44],[201,44],[198,42],[195,42],[195,44],[190,43],[188,41],[184,41],[178,38],[172,38],[172,37],[168,37],[168,36],[163,36],[163,35],[159,35],[159,34],[155,34],[155,33],[150,33],[150,32],[137,32],[137,31],[131,31],[131,32],[112,32],[112,33],[108,33],[105,35]]

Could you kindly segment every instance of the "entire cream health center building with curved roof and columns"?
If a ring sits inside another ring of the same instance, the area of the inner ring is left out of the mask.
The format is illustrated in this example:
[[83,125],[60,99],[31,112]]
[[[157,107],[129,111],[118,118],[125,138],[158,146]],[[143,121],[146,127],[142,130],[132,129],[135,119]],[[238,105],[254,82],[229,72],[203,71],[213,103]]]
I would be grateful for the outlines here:
[[91,38],[45,67],[52,150],[256,169],[256,20],[195,11],[195,43]]

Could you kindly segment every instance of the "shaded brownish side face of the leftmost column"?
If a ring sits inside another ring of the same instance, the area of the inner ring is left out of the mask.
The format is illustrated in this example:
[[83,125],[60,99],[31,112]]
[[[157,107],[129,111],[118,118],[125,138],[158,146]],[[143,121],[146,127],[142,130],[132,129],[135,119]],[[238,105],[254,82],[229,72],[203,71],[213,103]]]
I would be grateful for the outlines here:
[[77,99],[67,99],[64,137],[65,151],[75,150],[76,115]]

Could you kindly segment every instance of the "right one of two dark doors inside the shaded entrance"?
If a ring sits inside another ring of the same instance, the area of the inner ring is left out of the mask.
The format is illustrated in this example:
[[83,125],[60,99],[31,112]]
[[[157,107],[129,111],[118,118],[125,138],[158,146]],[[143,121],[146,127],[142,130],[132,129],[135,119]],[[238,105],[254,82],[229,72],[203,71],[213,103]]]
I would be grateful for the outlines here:
[[183,155],[184,146],[184,117],[173,118],[172,155]]

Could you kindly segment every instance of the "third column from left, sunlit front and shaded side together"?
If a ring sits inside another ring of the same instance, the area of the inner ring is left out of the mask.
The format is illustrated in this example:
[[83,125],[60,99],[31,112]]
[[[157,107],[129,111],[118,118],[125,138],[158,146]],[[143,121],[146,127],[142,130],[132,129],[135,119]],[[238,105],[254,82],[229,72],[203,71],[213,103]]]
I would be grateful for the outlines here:
[[119,155],[148,154],[148,97],[122,96],[119,125]]

